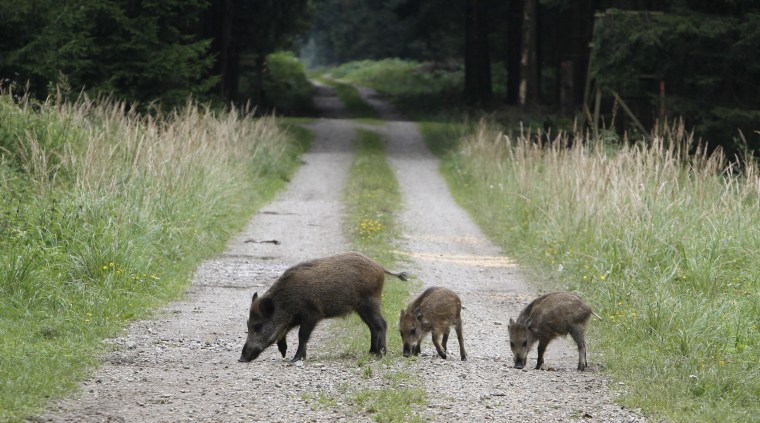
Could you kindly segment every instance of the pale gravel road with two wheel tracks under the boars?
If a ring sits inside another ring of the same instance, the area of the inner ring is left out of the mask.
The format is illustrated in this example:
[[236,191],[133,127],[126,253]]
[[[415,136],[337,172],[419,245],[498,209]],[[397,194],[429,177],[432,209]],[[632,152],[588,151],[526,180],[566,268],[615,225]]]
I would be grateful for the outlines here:
[[[400,120],[372,91],[361,93],[388,119],[364,127],[386,137],[402,190],[398,249],[404,260],[393,270],[410,272],[423,288],[453,289],[464,306],[467,361],[459,360],[456,337],[445,361],[429,339],[418,360],[389,352],[398,356],[389,366],[419,374],[427,392],[428,403],[410,415],[440,422],[644,421],[640,413],[612,402],[610,382],[595,363],[593,337],[586,372],[575,370],[577,350],[569,338],[547,349],[551,371],[511,367],[507,322],[537,292],[454,202],[416,125]],[[314,331],[302,363],[283,360],[274,347],[251,363],[237,362],[253,292],[265,291],[297,262],[350,248],[341,229],[340,196],[355,131],[362,125],[345,119],[330,89],[321,87],[318,95],[323,118],[309,125],[315,140],[287,189],[229,241],[224,254],[197,269],[183,299],[109,340],[114,351],[80,392],[30,421],[373,421],[367,410],[346,401],[346,394],[379,389],[387,381],[361,375],[356,360],[329,342],[330,321]],[[262,242],[271,240],[279,243]],[[386,319],[393,326],[397,316]],[[592,333],[597,324],[589,322]],[[388,336],[398,334],[389,330]],[[288,344],[297,345],[297,331],[291,331]],[[533,360],[535,351],[528,367]],[[333,400],[319,404],[320,395]]]

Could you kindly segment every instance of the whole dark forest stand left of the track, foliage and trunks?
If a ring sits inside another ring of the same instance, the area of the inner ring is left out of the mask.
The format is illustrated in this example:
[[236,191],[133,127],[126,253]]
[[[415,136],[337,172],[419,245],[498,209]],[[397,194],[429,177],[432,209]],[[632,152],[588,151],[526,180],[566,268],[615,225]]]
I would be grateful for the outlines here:
[[37,97],[258,103],[266,56],[294,46],[311,10],[308,0],[0,0],[0,82]]

